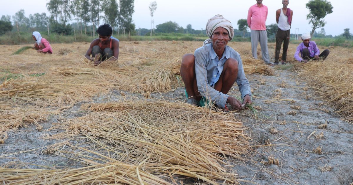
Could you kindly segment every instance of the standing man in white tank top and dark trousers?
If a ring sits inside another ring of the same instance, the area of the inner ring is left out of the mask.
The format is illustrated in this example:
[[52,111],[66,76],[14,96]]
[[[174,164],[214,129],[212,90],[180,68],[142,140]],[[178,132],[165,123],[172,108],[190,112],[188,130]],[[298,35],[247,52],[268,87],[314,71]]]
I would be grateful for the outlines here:
[[280,51],[282,42],[283,52],[282,52],[282,65],[286,63],[287,60],[287,50],[289,45],[289,39],[291,37],[291,25],[293,18],[293,11],[287,8],[289,0],[282,0],[283,8],[276,11],[276,21],[278,23],[278,30],[276,33],[276,54],[275,54],[275,65],[278,65],[278,60],[280,58]]

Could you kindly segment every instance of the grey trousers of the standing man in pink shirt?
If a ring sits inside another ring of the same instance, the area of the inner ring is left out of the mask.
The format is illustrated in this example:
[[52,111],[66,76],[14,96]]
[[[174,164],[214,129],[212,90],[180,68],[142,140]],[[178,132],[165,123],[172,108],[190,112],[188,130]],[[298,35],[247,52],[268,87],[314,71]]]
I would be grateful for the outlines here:
[[262,59],[266,64],[270,63],[270,57],[267,47],[267,31],[266,30],[251,30],[251,49],[252,56],[257,59],[257,43],[260,42]]

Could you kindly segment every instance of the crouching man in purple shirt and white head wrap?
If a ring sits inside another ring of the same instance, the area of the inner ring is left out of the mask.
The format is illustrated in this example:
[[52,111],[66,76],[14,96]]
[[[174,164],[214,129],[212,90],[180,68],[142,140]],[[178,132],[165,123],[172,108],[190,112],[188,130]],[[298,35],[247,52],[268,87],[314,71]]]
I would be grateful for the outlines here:
[[307,63],[308,60],[326,59],[326,57],[330,54],[330,50],[324,50],[320,54],[320,50],[316,43],[314,41],[310,41],[310,39],[311,36],[309,33],[304,33],[301,35],[301,40],[303,40],[303,43],[300,43],[297,47],[297,51],[294,53],[294,58],[299,62],[305,63]]

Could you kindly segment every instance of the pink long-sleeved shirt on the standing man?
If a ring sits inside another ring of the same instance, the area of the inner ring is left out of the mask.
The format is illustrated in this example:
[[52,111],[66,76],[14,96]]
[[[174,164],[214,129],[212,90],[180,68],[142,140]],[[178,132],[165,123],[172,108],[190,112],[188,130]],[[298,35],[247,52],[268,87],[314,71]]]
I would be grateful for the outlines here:
[[267,6],[259,7],[257,4],[251,6],[247,13],[247,25],[251,30],[266,30],[267,14]]

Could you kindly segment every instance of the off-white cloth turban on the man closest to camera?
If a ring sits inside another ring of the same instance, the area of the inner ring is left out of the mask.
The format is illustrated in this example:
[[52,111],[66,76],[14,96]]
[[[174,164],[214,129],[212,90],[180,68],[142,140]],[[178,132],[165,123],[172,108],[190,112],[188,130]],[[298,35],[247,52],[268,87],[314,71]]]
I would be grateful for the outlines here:
[[[219,27],[225,28],[228,31],[230,39],[231,40],[233,39],[233,36],[234,36],[233,25],[222,15],[215,15],[214,17],[208,20],[206,24],[206,33],[208,37],[211,37],[213,35],[213,32]],[[203,42],[203,45],[210,44],[211,42],[212,42],[211,39],[207,39]]]

